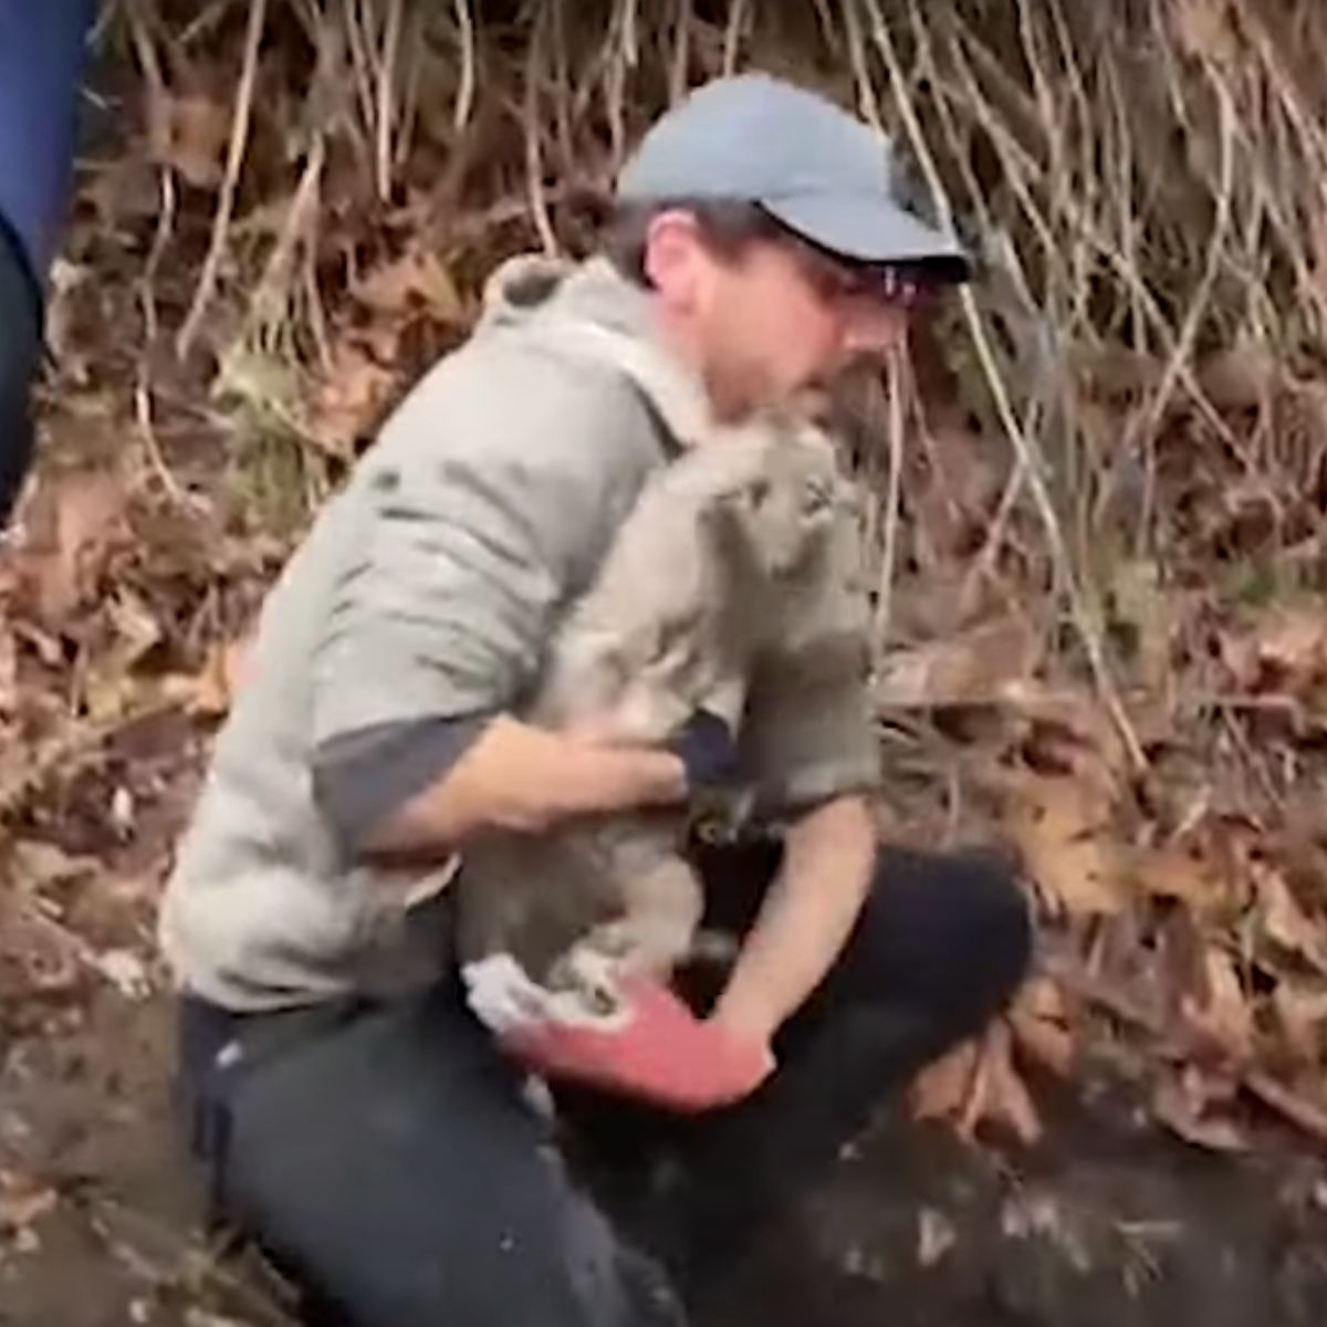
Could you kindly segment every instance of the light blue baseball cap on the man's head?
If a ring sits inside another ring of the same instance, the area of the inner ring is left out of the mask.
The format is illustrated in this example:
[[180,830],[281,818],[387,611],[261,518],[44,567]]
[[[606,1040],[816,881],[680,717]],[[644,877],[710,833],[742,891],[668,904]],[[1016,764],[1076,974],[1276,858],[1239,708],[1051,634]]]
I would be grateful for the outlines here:
[[743,73],[690,93],[649,129],[617,180],[622,202],[735,199],[859,263],[971,276],[957,240],[900,198],[888,137],[817,93]]

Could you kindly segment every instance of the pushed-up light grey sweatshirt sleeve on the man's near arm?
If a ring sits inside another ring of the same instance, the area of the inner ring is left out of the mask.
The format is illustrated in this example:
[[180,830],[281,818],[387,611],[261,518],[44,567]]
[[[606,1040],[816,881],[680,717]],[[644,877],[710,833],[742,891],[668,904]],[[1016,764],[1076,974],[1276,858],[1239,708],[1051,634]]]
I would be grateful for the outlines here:
[[360,476],[313,650],[314,747],[519,703],[644,478],[633,406],[601,382],[536,373],[480,395],[435,419],[421,393]]

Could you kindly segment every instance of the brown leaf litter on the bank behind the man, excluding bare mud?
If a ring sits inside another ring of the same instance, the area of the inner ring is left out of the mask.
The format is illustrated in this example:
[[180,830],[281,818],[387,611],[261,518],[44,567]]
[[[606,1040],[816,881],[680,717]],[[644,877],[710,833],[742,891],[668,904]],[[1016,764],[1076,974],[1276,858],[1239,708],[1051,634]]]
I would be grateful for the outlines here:
[[[437,58],[455,49],[450,13],[417,16],[411,58],[437,80],[426,101],[409,61],[399,85],[357,64],[373,42],[341,29],[373,28],[380,7],[324,13],[312,29],[314,7],[291,7],[268,20],[281,35],[268,35],[249,89],[264,114],[218,230],[244,94],[247,7],[230,8],[207,40],[184,41],[169,4],[122,7],[102,33],[107,96],[133,131],[110,134],[80,179],[40,394],[61,454],[42,458],[0,569],[0,1026],[11,1031],[77,1006],[89,981],[130,999],[159,982],[151,901],[207,739],[243,685],[263,592],[376,423],[463,334],[488,264],[537,244],[540,215],[569,251],[584,248],[589,223],[552,180],[594,174],[584,163],[604,162],[605,114],[610,125],[642,114],[606,82],[547,119],[483,96],[463,115],[463,70]],[[886,541],[894,549],[874,678],[881,815],[920,843],[1006,853],[1040,930],[1034,978],[979,1042],[920,1075],[914,1111],[971,1140],[1034,1145],[1046,1132],[1039,1084],[1072,1084],[1123,1047],[1156,1120],[1197,1147],[1257,1147],[1278,1121],[1327,1144],[1322,384],[1286,350],[1289,332],[1226,344],[1205,328],[1201,349],[1185,341],[1129,271],[1143,261],[1129,257],[1137,236],[1117,239],[1095,195],[1075,211],[1039,174],[1046,145],[1019,146],[1038,117],[1024,115],[1035,101],[987,78],[1003,38],[981,37],[971,7],[940,8],[933,46],[914,54],[943,64],[928,84],[945,102],[940,122],[1006,123],[993,151],[1018,187],[1003,202],[1027,210],[1006,219],[1009,232],[1064,227],[1059,248],[1075,261],[1088,261],[1084,236],[1113,255],[1093,280],[1119,301],[1117,321],[1128,307],[1143,340],[1169,348],[1173,373],[1165,354],[1120,353],[1083,308],[1056,358],[1018,295],[1031,268],[1001,271],[967,321],[951,314],[962,325],[922,330],[912,348],[898,508],[881,500],[868,514],[872,569]],[[1245,38],[1223,8],[1169,8],[1181,17],[1168,40],[1231,77],[1229,44]],[[1093,50],[1108,40],[1079,38]],[[480,40],[486,77],[525,77],[524,53],[516,68],[500,36]],[[982,49],[986,73],[971,64]],[[1105,78],[1121,56],[1097,54]],[[601,57],[612,68],[612,49]],[[1194,100],[1193,114],[1201,93],[1176,94]],[[1063,110],[1046,133],[1059,122],[1095,142],[1070,76],[1039,96]],[[1262,129],[1285,142],[1283,123]],[[532,143],[547,162],[535,178]],[[962,198],[962,154],[929,147]],[[1169,163],[1180,218],[1204,218],[1212,202],[1194,153]],[[1052,158],[1068,159],[1063,143]],[[1255,171],[1247,187],[1259,182]],[[1152,220],[1157,234],[1174,224]],[[202,289],[212,234],[220,259]],[[1231,265],[1246,271],[1242,256]],[[1286,260],[1294,280],[1300,267]],[[1047,301],[1079,307],[1055,284],[1063,273],[1042,280]],[[1197,273],[1166,268],[1165,280],[1192,288]],[[195,305],[179,358],[174,338]],[[986,318],[1009,333],[989,348],[994,378],[967,349]],[[1180,386],[1162,399],[1168,377]],[[998,386],[1022,390],[1022,418],[1044,423],[1023,439],[1034,453],[1011,442]],[[849,397],[844,415],[882,498],[878,393],[865,406]],[[1055,439],[1063,453],[1043,454]],[[947,1243],[942,1223],[924,1222],[924,1261],[942,1261]]]

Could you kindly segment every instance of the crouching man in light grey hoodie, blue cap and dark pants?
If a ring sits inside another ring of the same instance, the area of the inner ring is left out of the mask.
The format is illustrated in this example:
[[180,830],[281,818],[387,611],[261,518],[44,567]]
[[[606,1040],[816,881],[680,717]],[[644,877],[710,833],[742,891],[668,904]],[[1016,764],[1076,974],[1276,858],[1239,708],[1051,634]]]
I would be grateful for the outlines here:
[[[733,764],[713,717],[671,751],[518,717],[641,484],[705,421],[885,350],[967,275],[896,199],[878,137],[763,76],[665,115],[618,203],[606,255],[499,273],[320,515],[165,898],[222,1210],[328,1323],[682,1322],[1027,962],[1013,881],[877,845],[860,667],[794,670],[738,742],[783,833],[695,849],[711,920],[743,937],[713,1005],[646,991],[625,1030],[545,1028],[524,1060],[466,1010],[447,884],[472,836],[683,803]],[[861,644],[843,629],[844,658]]]

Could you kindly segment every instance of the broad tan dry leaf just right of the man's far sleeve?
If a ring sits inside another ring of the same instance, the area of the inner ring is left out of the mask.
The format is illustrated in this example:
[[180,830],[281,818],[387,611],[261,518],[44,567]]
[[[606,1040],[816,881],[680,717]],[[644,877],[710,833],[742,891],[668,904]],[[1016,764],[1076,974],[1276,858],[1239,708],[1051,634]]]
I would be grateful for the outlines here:
[[1031,675],[1040,645],[1019,617],[983,622],[946,640],[888,654],[876,682],[885,709],[990,705],[1007,683]]

